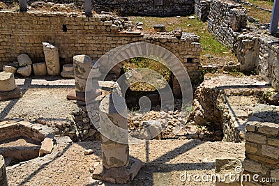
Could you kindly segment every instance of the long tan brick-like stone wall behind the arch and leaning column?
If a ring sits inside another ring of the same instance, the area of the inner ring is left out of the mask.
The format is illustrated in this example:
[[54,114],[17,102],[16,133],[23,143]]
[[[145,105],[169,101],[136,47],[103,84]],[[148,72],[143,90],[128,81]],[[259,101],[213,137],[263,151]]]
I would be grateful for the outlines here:
[[[86,54],[91,59],[115,47],[131,42],[150,42],[173,52],[187,68],[189,76],[200,76],[201,47],[199,37],[184,34],[181,39],[165,35],[144,35],[119,31],[112,16],[85,17],[76,13],[12,13],[0,12],[0,69],[16,61],[19,54],[28,54],[33,63],[44,61],[43,44],[49,42],[59,49],[61,65],[73,62],[73,56]],[[187,63],[188,59],[190,62]]]

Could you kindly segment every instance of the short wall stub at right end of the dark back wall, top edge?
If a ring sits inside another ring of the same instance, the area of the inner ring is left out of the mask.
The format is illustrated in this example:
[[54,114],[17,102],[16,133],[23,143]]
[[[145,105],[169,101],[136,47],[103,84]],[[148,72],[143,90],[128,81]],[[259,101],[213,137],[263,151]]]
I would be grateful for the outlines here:
[[206,22],[209,17],[209,10],[211,6],[211,0],[195,0],[195,15],[200,22]]

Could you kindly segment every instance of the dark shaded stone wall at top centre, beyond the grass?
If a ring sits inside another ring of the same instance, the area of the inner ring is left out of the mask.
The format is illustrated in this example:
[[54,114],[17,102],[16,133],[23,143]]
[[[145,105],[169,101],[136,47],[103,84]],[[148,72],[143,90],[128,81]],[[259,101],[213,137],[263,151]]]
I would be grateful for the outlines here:
[[95,0],[93,9],[119,15],[176,16],[194,13],[194,0]]

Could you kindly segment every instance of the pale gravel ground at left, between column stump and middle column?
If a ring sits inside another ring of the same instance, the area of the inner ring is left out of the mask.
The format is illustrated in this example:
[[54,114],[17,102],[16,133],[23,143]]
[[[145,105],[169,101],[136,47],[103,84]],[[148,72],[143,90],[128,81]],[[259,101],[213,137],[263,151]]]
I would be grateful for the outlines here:
[[75,101],[66,96],[75,88],[74,79],[44,77],[44,79],[16,79],[17,86],[23,89],[23,97],[0,102],[0,121],[8,118],[71,119],[77,108]]

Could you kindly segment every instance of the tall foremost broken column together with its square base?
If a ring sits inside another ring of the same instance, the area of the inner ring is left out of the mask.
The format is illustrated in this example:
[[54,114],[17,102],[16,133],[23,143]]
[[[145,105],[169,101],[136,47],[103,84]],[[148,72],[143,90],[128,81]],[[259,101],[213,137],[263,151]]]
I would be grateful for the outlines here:
[[93,178],[110,183],[129,183],[142,166],[129,158],[128,123],[125,99],[113,93],[100,103],[102,164],[93,171]]

